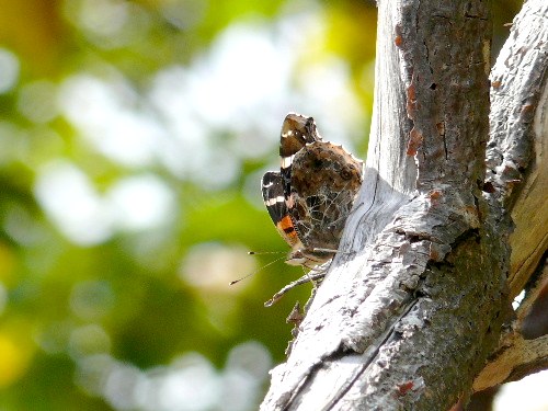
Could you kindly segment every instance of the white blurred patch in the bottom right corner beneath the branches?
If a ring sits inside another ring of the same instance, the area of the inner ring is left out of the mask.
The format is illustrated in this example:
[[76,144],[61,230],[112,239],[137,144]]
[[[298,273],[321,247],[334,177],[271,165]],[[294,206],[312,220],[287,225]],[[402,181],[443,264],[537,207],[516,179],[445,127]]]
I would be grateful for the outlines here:
[[546,411],[548,410],[548,370],[529,375],[502,386],[494,397],[494,411]]

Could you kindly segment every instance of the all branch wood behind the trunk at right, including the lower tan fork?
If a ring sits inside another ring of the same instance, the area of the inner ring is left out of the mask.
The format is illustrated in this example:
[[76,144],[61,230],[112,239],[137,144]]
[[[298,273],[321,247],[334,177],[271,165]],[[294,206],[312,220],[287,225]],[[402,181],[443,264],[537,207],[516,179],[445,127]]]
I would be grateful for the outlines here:
[[[516,320],[505,328],[475,390],[548,368],[548,335],[529,332],[527,316],[548,290],[548,3],[528,1],[491,72],[491,138],[487,185],[493,215],[512,217],[511,297],[526,287]],[[505,226],[505,224],[504,224]],[[546,298],[546,297],[544,297]],[[544,312],[546,317],[546,311]]]

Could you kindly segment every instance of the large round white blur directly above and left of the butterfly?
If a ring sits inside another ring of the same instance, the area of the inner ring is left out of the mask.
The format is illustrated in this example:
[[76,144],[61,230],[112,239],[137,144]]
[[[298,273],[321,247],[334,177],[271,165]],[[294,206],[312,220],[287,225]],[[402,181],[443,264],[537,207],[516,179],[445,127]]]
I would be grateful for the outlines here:
[[[186,98],[213,127],[238,127],[240,118],[272,110],[272,103],[290,94],[288,80],[297,56],[271,31],[259,24],[235,24],[220,34],[207,56],[194,61],[191,70],[197,76]],[[306,27],[299,31],[307,35]]]

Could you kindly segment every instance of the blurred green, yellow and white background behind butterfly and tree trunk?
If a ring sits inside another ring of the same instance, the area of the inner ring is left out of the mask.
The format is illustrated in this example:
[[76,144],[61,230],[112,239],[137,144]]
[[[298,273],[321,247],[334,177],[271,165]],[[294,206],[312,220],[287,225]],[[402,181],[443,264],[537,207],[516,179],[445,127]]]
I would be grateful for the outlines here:
[[372,1],[0,0],[0,410],[256,409],[310,293],[263,307],[301,272],[261,269],[259,181],[290,111],[365,157],[375,32]]

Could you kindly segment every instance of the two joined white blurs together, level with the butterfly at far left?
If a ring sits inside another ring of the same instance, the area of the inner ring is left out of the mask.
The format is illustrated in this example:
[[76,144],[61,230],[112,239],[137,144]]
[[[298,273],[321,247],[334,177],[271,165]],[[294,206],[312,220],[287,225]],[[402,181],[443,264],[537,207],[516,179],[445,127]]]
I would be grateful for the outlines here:
[[118,180],[101,196],[88,176],[67,161],[38,174],[36,198],[59,230],[78,244],[107,240],[118,230],[145,230],[171,220],[174,195],[152,174]]

